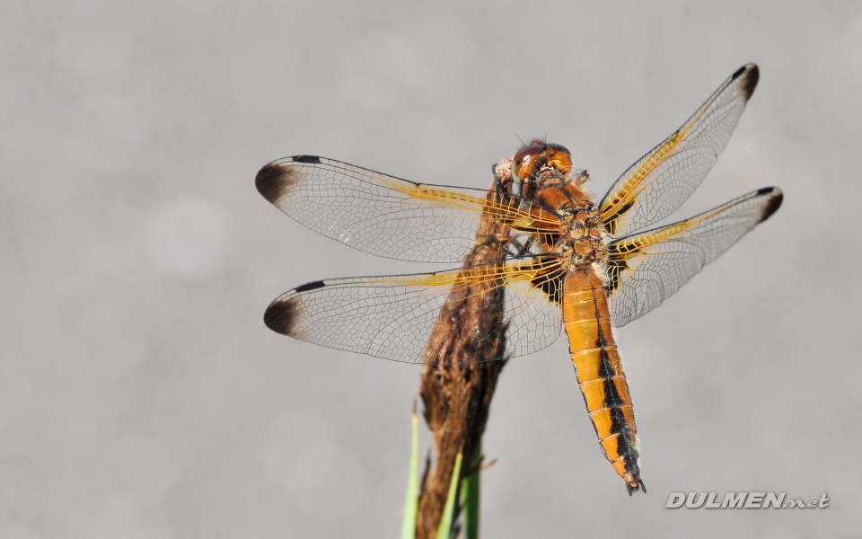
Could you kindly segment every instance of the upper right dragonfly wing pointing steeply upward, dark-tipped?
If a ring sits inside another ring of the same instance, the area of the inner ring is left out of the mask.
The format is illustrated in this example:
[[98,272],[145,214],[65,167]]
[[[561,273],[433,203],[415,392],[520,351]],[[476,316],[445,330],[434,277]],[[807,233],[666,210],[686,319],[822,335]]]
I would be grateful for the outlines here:
[[655,223],[690,197],[725,149],[758,77],[754,64],[740,67],[681,128],[614,182],[600,205],[609,234]]

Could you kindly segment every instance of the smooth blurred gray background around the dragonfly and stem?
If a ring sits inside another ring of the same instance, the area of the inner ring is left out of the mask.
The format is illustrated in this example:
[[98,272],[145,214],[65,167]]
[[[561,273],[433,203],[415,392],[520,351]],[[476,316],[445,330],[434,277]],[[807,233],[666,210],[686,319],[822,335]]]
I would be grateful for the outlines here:
[[419,367],[261,317],[310,280],[441,268],[313,234],[255,173],[309,153],[484,189],[547,135],[601,196],[749,61],[761,84],[677,216],[768,185],[784,206],[617,333],[649,493],[604,461],[560,340],[501,377],[483,535],[858,530],[862,4],[0,7],[3,539],[397,535]]

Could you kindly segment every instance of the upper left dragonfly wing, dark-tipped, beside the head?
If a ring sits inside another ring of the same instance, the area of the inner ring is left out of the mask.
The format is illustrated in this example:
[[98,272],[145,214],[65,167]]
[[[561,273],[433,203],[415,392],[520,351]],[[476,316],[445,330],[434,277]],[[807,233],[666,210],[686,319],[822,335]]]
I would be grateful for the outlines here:
[[559,228],[554,212],[515,195],[414,183],[313,155],[273,161],[255,183],[315,232],[402,261],[461,262],[483,212],[526,233]]

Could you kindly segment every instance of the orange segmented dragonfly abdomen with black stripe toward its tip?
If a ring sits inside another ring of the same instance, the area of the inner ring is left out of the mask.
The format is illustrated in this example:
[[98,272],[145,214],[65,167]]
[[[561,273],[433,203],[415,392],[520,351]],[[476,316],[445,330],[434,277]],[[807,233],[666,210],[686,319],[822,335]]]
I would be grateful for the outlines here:
[[638,429],[629,384],[613,340],[602,279],[591,267],[576,270],[566,278],[562,300],[569,353],[599,444],[629,494],[646,491],[640,480]]

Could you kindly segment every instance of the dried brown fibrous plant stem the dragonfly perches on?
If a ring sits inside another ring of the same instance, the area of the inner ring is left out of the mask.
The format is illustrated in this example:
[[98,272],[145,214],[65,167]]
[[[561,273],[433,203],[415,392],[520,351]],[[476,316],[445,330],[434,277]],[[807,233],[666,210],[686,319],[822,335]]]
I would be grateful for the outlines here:
[[[489,200],[499,202],[511,192],[510,163],[503,160],[495,167]],[[463,267],[502,263],[508,238],[505,225],[483,216],[476,246]],[[474,470],[471,458],[480,446],[497,377],[506,365],[503,287],[481,283],[453,290],[429,342],[435,345],[426,351],[420,394],[436,458],[435,464],[427,463],[419,493],[418,539],[436,535],[455,457],[463,455],[462,478]]]

